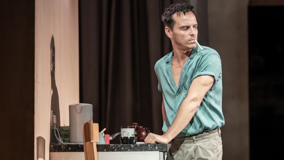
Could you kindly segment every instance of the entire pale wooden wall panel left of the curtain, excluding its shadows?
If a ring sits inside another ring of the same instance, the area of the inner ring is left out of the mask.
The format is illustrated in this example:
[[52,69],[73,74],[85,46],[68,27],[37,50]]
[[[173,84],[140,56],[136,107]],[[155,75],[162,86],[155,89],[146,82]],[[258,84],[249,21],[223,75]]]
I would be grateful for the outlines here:
[[49,159],[52,35],[55,43],[55,81],[59,95],[60,124],[64,126],[69,125],[68,105],[79,101],[77,0],[35,1],[35,159],[38,136],[45,139],[45,159]]

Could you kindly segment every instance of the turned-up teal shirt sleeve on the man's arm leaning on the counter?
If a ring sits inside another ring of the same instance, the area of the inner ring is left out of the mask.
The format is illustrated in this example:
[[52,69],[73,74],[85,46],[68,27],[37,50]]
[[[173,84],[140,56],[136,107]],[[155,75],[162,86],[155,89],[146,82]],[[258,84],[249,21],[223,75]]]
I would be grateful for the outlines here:
[[214,82],[217,81],[221,72],[221,59],[217,54],[211,53],[201,59],[201,63],[197,67],[196,73],[192,80],[198,76],[209,75],[214,77]]

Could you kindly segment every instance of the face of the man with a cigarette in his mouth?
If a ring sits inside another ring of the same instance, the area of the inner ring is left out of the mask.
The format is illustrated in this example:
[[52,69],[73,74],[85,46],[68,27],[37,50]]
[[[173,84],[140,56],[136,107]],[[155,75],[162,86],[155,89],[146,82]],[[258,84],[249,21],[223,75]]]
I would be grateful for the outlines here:
[[173,15],[175,25],[172,32],[173,47],[177,47],[180,50],[188,50],[196,47],[197,40],[197,22],[196,17],[192,12],[188,12],[185,15],[178,16],[177,13]]

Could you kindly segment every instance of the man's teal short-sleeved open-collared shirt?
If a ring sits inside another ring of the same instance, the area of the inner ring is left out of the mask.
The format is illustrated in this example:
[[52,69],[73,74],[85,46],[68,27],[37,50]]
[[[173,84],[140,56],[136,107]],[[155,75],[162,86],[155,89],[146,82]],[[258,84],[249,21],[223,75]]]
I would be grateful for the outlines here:
[[188,94],[188,89],[193,79],[201,75],[213,76],[213,86],[205,94],[199,108],[193,115],[188,125],[177,137],[190,136],[211,131],[224,125],[222,113],[222,68],[219,54],[209,47],[197,45],[186,60],[181,71],[178,87],[172,76],[173,51],[156,62],[155,73],[158,78],[158,89],[164,94],[164,105],[167,113],[163,125],[166,132],[175,119],[181,103]]

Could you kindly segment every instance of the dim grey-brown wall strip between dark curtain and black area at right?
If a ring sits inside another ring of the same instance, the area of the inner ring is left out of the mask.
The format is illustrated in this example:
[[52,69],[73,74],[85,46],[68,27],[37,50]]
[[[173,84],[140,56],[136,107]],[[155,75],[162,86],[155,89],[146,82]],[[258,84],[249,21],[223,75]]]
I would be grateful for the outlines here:
[[222,60],[223,159],[249,159],[248,0],[208,1],[209,45]]

